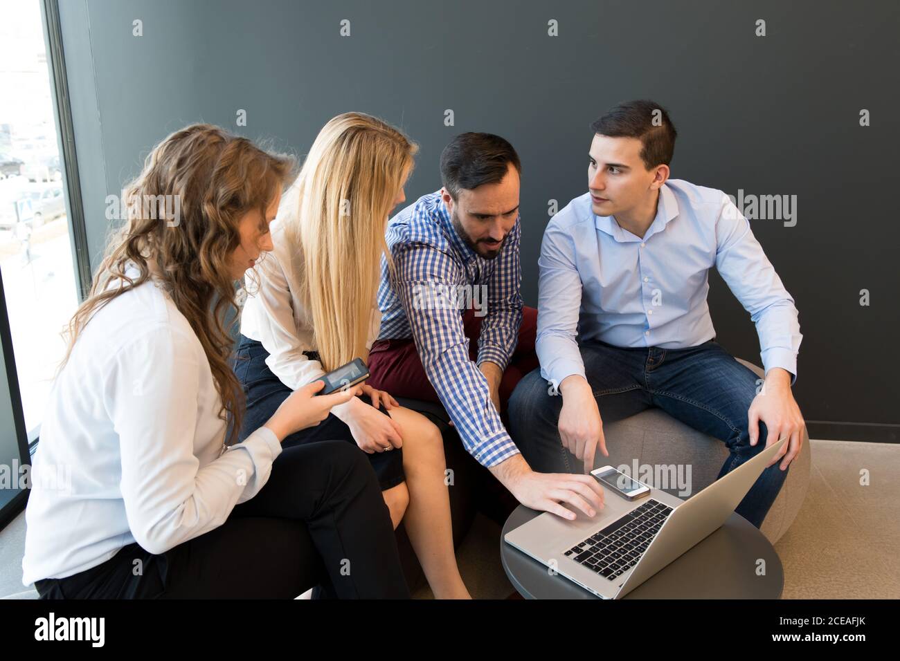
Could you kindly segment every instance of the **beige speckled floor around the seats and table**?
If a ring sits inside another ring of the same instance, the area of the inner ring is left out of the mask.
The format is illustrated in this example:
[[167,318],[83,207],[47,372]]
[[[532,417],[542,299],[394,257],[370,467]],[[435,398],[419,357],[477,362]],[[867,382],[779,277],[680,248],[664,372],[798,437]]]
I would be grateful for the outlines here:
[[[775,545],[785,599],[900,598],[900,445],[812,441],[809,491]],[[860,471],[869,471],[869,485]],[[0,531],[0,595],[20,593],[24,517]],[[459,549],[476,598],[513,594],[500,566],[500,528],[479,517]],[[415,595],[431,596],[428,588]]]

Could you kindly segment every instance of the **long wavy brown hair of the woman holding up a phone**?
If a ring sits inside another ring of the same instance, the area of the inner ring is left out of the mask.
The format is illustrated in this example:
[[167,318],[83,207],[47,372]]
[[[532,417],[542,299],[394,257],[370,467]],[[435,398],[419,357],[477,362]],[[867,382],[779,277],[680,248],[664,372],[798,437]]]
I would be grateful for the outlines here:
[[[208,124],[177,130],[154,147],[124,191],[128,219],[110,237],[90,294],[68,323],[59,370],[94,314],[152,272],[202,344],[222,401],[219,416],[232,416],[233,440],[244,396],[228,363],[233,340],[226,319],[238,310],[229,258],[240,244],[238,221],[259,210],[266,223],[266,207],[293,178],[294,165],[291,156],[269,154]],[[148,199],[163,196],[177,196],[177,219],[145,213]],[[138,269],[135,278],[126,275],[130,264]]]

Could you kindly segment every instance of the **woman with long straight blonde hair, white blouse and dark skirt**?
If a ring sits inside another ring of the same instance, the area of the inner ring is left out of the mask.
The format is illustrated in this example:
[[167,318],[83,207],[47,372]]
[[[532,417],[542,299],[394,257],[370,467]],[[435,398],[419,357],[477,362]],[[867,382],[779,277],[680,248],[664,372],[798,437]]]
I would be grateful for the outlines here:
[[[273,252],[247,273],[235,373],[247,395],[243,433],[327,371],[364,361],[381,321],[375,303],[384,229],[406,198],[418,147],[358,112],[329,121],[272,224]],[[441,434],[387,393],[335,406],[285,445],[343,438],[378,475],[394,527],[403,520],[437,598],[469,598],[456,567]]]

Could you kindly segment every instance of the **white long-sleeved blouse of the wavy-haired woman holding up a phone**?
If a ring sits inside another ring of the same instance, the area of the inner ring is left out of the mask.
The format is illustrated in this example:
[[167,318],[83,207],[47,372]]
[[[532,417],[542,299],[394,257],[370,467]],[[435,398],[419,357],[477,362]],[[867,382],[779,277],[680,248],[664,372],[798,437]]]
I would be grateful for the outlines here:
[[95,567],[135,541],[163,553],[255,496],[281,443],[261,427],[225,451],[220,404],[200,340],[154,281],[98,311],[50,392],[23,583]]

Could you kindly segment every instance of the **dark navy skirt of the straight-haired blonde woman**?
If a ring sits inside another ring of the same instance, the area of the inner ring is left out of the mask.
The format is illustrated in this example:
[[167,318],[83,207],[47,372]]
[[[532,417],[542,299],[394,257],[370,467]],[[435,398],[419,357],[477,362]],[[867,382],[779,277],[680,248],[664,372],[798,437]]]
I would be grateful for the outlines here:
[[[318,357],[313,353],[308,353],[307,355],[313,360],[318,360]],[[234,373],[237,375],[247,397],[247,410],[238,436],[240,441],[243,441],[263,424],[266,424],[268,419],[275,414],[278,406],[281,406],[282,402],[293,392],[269,370],[269,366],[266,365],[266,358],[268,357],[269,353],[266,352],[261,343],[240,335],[238,351],[232,362]],[[360,399],[366,404],[371,404],[368,397],[360,397]],[[380,406],[379,410],[384,415],[388,415],[387,410],[383,406]],[[353,434],[350,433],[350,428],[347,424],[336,415],[329,414],[320,424],[292,433],[284,439],[282,447],[288,448],[294,445],[320,441],[345,441],[356,445],[356,441],[354,441]],[[368,457],[375,474],[378,476],[378,482],[382,487],[382,491],[396,487],[406,479],[403,473],[402,448],[395,448],[386,452],[374,452],[373,454],[366,454],[366,457]]]

